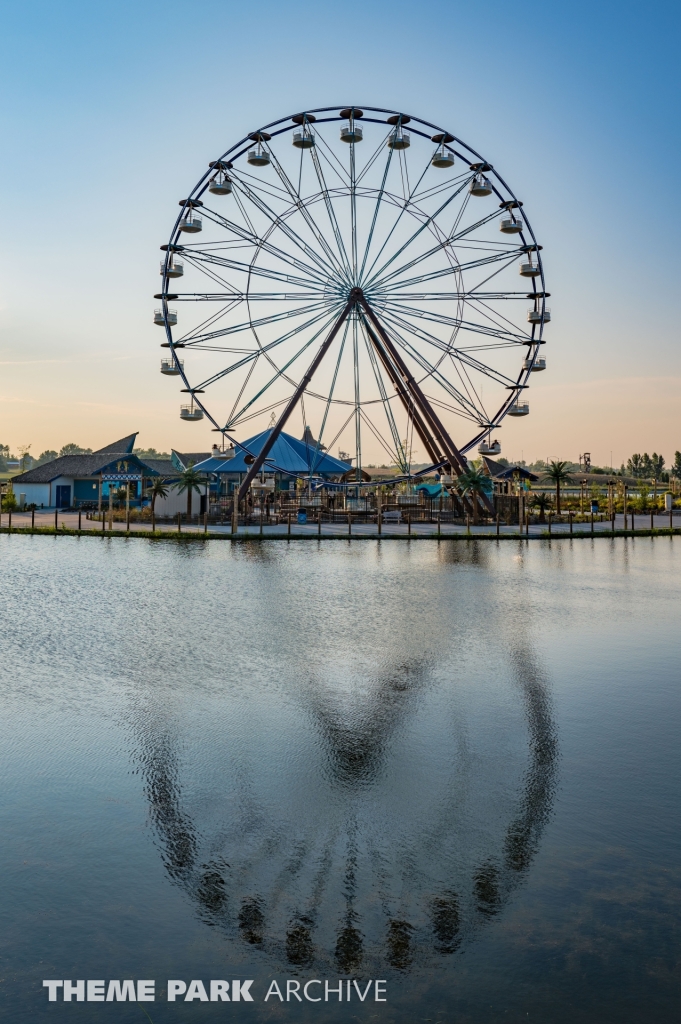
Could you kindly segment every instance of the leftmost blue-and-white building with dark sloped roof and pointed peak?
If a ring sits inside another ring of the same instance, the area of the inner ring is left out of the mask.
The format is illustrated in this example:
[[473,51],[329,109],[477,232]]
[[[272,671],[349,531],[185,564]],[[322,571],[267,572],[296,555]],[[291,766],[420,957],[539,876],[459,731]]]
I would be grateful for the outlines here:
[[110,488],[130,486],[131,504],[139,504],[157,476],[179,475],[170,460],[142,461],[133,455],[137,434],[129,434],[91,455],[67,455],[12,478],[19,505],[38,508],[92,508],[109,502]]

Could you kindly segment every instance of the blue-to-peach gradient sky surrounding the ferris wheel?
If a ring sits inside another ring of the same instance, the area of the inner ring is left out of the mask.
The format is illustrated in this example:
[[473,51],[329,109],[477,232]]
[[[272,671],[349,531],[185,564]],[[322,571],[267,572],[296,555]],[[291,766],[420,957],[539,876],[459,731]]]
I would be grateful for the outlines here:
[[[504,455],[681,449],[679,43],[661,2],[3,2],[0,441],[139,431],[206,451],[159,373],[159,246],[210,159],[280,117],[372,104],[448,126],[521,195],[548,370]],[[190,16],[187,16],[187,15]],[[156,303],[158,305],[158,303]]]

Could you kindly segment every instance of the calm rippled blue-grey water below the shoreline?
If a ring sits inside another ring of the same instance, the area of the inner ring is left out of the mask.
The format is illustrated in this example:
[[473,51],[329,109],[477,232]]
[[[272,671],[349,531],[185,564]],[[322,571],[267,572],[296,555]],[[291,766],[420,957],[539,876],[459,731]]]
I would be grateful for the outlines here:
[[0,555],[3,1021],[678,1019],[678,540]]

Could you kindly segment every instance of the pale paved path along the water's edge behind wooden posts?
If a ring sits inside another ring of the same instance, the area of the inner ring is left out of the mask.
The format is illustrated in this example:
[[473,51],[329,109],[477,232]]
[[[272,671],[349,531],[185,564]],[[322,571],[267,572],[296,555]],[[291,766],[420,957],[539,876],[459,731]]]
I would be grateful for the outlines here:
[[[627,528],[631,531],[632,529],[632,517],[629,515],[627,517]],[[30,529],[31,528],[31,513],[30,512],[14,512],[12,513],[12,529]],[[674,516],[674,527],[681,528],[681,517]],[[52,511],[40,511],[35,514],[35,526],[36,528],[54,528],[54,510]],[[58,528],[66,528],[71,530],[78,529],[78,513],[77,512],[59,512],[57,515]],[[7,529],[9,525],[9,516],[7,513],[2,514],[0,520],[0,526],[3,530]],[[635,529],[640,531],[650,530],[650,515],[637,515],[635,516]],[[653,517],[653,528],[654,529],[669,529],[670,527],[670,516],[669,513],[664,513],[662,515],[655,515]],[[83,532],[93,532],[101,535],[101,522],[98,520],[86,519],[83,515],[81,517],[81,529]],[[610,534],[611,524],[610,522],[594,522],[593,524],[594,534]],[[624,516],[618,515],[615,522],[615,529],[622,531],[625,529]],[[137,534],[143,532],[148,534],[151,530],[151,523],[139,523],[131,522],[130,532]],[[572,525],[573,535],[577,536],[591,536],[591,522],[584,523],[573,523]],[[109,524],[107,524],[107,530],[109,532]],[[124,522],[114,522],[114,532],[116,534],[126,534],[126,525]],[[157,532],[172,534],[177,536],[177,524],[176,523],[157,523]],[[529,526],[529,537],[539,538],[546,537],[548,532],[548,523],[536,523]],[[553,523],[551,526],[551,532],[554,537],[569,535],[569,525],[566,521],[559,524]],[[185,524],[182,523],[182,534],[186,535],[204,535],[204,526],[197,526],[196,524]],[[208,527],[209,537],[230,537],[231,527],[227,524],[209,524]],[[251,526],[240,526],[239,536],[242,539],[248,537],[259,538],[260,528],[258,525]],[[288,537],[288,526],[286,523],[279,525],[265,525],[263,527],[263,537],[266,538],[279,538],[284,540]],[[306,523],[305,525],[298,524],[297,522],[291,523],[291,537],[292,539],[298,538],[315,538],[318,537],[318,528],[316,523]],[[322,524],[322,537],[325,538],[347,538],[351,536],[352,538],[376,538],[378,537],[378,527],[376,523],[353,523],[352,532],[348,535],[347,522],[325,522]],[[383,523],[383,529],[381,534],[382,538],[385,540],[390,540],[391,538],[402,538],[406,539],[410,536],[409,526],[407,523]],[[435,523],[419,522],[412,524],[411,537],[418,538],[436,538],[437,536],[437,525]],[[442,538],[446,537],[466,537],[468,531],[466,526],[456,525],[453,523],[442,523],[440,527],[440,536]],[[497,536],[496,526],[485,525],[485,526],[471,526],[470,527],[471,537],[485,537],[494,538]],[[515,526],[501,526],[500,536],[502,537],[518,537],[518,527]],[[523,536],[524,530],[523,530]]]

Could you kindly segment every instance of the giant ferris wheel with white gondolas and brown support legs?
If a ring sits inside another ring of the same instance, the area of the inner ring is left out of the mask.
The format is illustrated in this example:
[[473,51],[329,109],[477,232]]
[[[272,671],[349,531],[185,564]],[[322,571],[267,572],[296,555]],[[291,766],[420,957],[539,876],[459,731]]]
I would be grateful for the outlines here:
[[285,427],[310,444],[310,476],[335,449],[357,481],[376,462],[458,476],[528,414],[551,318],[542,247],[450,132],[372,108],[296,114],[231,145],[179,205],[161,370],[183,382],[183,420],[242,446],[268,430],[240,497]]

